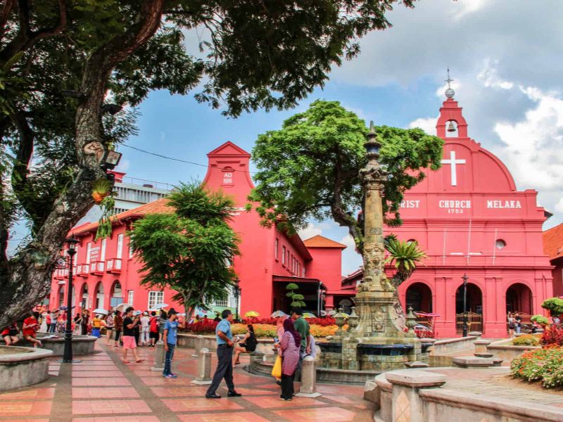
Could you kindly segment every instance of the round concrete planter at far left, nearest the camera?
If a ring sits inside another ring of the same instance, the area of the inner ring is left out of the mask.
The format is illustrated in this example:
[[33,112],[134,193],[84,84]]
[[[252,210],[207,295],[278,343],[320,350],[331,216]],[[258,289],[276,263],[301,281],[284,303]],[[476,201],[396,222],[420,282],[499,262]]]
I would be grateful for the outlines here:
[[42,383],[49,378],[49,357],[51,350],[34,349],[33,347],[0,346],[0,391],[27,387]]

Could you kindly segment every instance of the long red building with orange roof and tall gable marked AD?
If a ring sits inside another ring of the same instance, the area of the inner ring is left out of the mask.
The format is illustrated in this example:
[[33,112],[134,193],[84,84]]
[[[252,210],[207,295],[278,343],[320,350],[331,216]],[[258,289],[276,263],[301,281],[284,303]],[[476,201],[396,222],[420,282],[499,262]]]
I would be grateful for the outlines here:
[[[241,237],[241,256],[234,258],[234,270],[240,279],[240,311],[253,310],[269,316],[273,310],[289,308],[285,286],[298,283],[298,292],[305,296],[311,312],[320,310],[320,301],[327,290],[341,286],[341,255],[346,245],[315,236],[303,241],[298,235],[288,236],[276,227],[260,226],[255,211],[246,212],[247,197],[254,187],[248,165],[251,155],[232,142],[224,143],[208,153],[208,172],[203,183],[210,189],[222,189],[236,203],[232,227]],[[80,239],[75,255],[73,293],[76,312],[101,307],[110,309],[121,302],[137,309],[150,309],[172,301],[171,290],[157,290],[139,285],[141,263],[129,249],[127,231],[135,220],[153,212],[170,212],[165,198],[115,215],[110,238],[95,241],[97,223],[72,229]],[[67,270],[53,274],[50,293],[51,309],[66,303]],[[234,307],[232,295],[217,307]]]

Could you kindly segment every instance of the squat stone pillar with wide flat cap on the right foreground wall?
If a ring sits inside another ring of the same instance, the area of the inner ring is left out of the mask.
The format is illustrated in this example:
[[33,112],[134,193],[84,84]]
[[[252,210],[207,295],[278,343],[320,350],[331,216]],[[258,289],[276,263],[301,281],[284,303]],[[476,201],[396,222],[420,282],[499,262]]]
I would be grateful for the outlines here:
[[421,388],[439,387],[445,384],[445,375],[417,369],[400,369],[386,373],[393,385],[393,422],[426,422],[423,416]]

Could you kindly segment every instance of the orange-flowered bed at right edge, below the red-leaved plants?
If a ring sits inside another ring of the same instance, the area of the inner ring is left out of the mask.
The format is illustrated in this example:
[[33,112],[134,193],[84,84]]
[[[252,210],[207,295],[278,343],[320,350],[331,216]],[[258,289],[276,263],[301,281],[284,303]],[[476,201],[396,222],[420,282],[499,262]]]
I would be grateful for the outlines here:
[[541,381],[545,388],[563,387],[563,347],[552,345],[524,352],[512,360],[510,371],[514,378]]

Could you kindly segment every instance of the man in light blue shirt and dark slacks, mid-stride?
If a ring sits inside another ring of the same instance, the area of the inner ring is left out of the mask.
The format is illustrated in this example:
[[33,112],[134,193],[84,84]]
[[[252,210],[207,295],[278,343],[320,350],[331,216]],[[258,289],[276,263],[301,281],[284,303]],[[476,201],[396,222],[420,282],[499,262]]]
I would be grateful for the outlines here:
[[233,383],[233,333],[231,332],[231,322],[233,314],[229,309],[224,309],[221,314],[222,320],[215,328],[215,337],[217,338],[217,369],[213,375],[213,381],[205,393],[205,398],[220,399],[221,396],[217,394],[217,388],[224,378],[227,383],[227,397],[241,397],[239,392],[234,390]]

